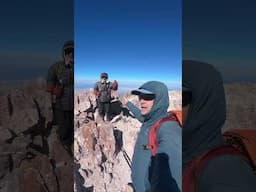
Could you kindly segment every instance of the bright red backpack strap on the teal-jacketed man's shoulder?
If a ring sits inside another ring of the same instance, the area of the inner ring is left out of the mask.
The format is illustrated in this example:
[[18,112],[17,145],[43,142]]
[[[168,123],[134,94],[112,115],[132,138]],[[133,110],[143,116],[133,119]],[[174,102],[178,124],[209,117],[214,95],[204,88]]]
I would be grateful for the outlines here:
[[178,120],[175,116],[164,117],[158,120],[156,123],[154,123],[149,130],[148,144],[145,146],[145,149],[150,150],[152,156],[156,155],[156,151],[158,148],[158,138],[157,138],[158,129],[160,128],[161,124],[166,121],[178,121]]

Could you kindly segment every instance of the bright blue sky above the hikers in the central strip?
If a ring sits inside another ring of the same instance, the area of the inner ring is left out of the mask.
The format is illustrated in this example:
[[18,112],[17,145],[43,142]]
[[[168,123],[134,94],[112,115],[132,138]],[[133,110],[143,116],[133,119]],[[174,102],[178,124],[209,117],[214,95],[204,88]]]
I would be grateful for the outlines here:
[[75,1],[75,80],[181,81],[181,0]]

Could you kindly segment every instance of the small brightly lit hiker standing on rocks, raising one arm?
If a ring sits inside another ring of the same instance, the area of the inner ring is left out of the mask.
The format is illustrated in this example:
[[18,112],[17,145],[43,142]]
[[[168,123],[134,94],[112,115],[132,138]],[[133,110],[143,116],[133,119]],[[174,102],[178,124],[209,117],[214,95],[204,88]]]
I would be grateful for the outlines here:
[[94,86],[94,94],[97,98],[97,105],[99,109],[99,115],[103,120],[110,121],[110,101],[111,101],[111,90],[117,90],[117,82],[114,83],[108,80],[107,73],[101,73],[100,81]]

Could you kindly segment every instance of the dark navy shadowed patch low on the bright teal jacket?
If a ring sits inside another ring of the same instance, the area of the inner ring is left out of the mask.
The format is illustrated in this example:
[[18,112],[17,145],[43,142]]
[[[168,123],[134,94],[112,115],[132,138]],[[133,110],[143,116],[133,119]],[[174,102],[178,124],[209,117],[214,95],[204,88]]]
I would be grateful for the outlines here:
[[180,192],[180,189],[172,177],[168,155],[156,154],[151,157],[149,167],[150,192]]

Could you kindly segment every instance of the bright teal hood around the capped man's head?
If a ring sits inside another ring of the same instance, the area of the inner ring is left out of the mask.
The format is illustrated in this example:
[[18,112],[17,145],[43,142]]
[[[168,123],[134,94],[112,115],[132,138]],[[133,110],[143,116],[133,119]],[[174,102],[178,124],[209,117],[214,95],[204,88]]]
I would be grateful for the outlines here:
[[154,104],[151,111],[144,115],[145,120],[155,120],[162,115],[166,115],[169,107],[169,95],[167,86],[159,81],[149,81],[143,84],[141,89],[146,89],[155,94]]

